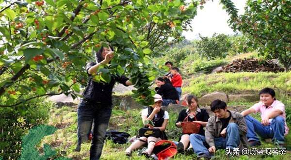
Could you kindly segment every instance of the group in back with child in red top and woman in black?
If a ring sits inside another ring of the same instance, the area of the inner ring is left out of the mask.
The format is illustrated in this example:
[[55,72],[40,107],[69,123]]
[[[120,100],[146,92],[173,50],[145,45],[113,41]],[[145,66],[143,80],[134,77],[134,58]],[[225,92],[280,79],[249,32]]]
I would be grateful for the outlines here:
[[179,74],[179,69],[173,67],[172,62],[168,61],[165,65],[169,67],[169,73],[155,81],[158,86],[155,90],[163,98],[162,106],[168,106],[170,103],[179,104],[182,94],[182,76]]

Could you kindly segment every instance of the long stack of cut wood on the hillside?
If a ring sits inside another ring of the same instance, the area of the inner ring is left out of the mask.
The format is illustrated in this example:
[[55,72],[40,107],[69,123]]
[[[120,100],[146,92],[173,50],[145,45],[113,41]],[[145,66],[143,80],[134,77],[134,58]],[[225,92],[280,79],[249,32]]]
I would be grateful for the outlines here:
[[255,58],[244,58],[232,61],[222,67],[219,72],[284,72],[278,64],[272,61],[258,61]]

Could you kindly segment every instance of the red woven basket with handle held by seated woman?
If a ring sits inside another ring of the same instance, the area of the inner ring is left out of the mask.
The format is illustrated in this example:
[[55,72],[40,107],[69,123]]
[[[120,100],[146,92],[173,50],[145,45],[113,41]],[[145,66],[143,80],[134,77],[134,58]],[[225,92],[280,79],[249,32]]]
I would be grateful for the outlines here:
[[[189,122],[188,117],[189,117],[189,115],[187,115],[187,117],[184,119],[184,121],[181,122],[183,134],[198,133],[199,129],[201,127],[201,124],[196,123],[196,122]],[[196,116],[194,116],[194,118],[195,118],[195,121],[197,121]]]

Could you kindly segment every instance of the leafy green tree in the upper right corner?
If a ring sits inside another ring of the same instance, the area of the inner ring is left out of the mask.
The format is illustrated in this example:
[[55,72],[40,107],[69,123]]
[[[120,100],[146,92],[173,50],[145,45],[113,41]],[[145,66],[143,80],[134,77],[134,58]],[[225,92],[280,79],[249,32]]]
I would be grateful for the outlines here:
[[238,16],[230,0],[221,0],[234,30],[247,35],[251,47],[266,58],[277,58],[285,70],[291,66],[291,1],[248,0],[245,13]]

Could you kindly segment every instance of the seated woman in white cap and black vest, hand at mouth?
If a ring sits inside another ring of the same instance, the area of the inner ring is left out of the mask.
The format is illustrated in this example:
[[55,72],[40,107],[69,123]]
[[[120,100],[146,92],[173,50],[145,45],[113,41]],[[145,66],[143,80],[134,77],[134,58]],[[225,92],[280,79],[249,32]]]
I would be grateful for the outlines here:
[[[139,139],[135,140],[126,150],[125,154],[127,156],[131,155],[131,152],[135,149],[138,149],[142,147],[144,144],[147,144],[147,149],[142,152],[143,155],[146,155],[146,157],[149,157],[154,149],[154,146],[156,142],[159,140],[166,140],[166,134],[164,130],[166,129],[167,122],[169,120],[169,113],[167,111],[162,110],[162,96],[156,94],[154,96],[155,104],[152,106],[149,106],[148,108],[144,109],[142,111],[142,119],[143,123],[145,124],[145,121],[152,121],[154,126],[146,124],[146,128],[150,129],[160,129],[160,137],[139,137]],[[146,135],[146,134],[145,134]]]

